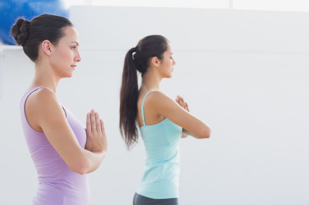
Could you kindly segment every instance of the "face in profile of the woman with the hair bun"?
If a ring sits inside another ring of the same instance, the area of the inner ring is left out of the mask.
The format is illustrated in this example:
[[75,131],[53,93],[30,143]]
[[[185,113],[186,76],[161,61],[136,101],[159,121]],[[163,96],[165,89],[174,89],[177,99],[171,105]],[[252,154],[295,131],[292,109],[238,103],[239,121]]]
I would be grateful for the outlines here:
[[81,60],[78,45],[77,30],[74,27],[66,28],[65,36],[53,48],[50,59],[55,74],[60,78],[72,77],[76,63]]

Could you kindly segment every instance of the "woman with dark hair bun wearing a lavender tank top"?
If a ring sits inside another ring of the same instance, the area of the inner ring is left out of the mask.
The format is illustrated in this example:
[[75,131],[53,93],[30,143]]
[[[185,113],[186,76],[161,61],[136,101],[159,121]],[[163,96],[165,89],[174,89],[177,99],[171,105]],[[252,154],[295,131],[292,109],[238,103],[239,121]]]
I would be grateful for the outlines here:
[[20,104],[39,180],[32,205],[89,205],[86,174],[105,158],[104,123],[92,109],[84,128],[56,94],[59,81],[72,77],[81,60],[77,30],[67,18],[43,14],[31,21],[17,19],[10,32],[35,63],[33,81]]

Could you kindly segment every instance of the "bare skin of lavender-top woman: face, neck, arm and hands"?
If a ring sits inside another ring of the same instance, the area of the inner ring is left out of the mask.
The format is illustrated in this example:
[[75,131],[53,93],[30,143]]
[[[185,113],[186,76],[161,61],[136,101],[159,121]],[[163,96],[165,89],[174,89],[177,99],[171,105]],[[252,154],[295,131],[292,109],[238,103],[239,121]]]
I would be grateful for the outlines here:
[[52,91],[45,88],[34,91],[26,101],[25,111],[31,127],[44,132],[69,168],[82,175],[100,166],[106,156],[107,138],[103,120],[92,109],[86,116],[85,148],[80,147],[56,95],[60,79],[72,77],[81,60],[76,29],[67,27],[65,33],[57,45],[48,40],[40,44],[35,76],[29,89],[42,86]]

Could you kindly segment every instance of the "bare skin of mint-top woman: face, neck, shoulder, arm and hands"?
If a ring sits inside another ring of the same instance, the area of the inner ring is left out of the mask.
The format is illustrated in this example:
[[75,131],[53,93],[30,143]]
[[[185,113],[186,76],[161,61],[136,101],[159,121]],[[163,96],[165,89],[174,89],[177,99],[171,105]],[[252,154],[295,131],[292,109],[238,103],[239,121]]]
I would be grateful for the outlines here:
[[164,118],[170,119],[175,124],[183,128],[182,137],[191,135],[198,139],[209,138],[211,130],[200,119],[194,117],[189,112],[187,102],[180,95],[176,100],[171,99],[163,92],[159,91],[159,85],[163,78],[171,78],[175,60],[172,57],[171,45],[167,45],[167,50],[163,53],[163,59],[153,57],[150,60],[149,67],[142,77],[142,84],[138,97],[138,124],[144,126],[142,119],[142,101],[145,94],[149,93],[144,102],[145,121],[147,125],[153,125],[161,122]]

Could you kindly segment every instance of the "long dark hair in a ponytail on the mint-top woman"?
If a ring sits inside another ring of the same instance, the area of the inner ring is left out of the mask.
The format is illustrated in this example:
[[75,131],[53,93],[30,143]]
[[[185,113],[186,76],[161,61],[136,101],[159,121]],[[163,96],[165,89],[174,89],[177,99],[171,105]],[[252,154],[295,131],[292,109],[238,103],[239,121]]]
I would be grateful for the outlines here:
[[138,141],[136,126],[139,92],[137,71],[143,76],[148,70],[151,58],[163,59],[163,53],[167,50],[167,43],[167,39],[161,35],[146,36],[125,56],[120,88],[119,128],[127,149]]

